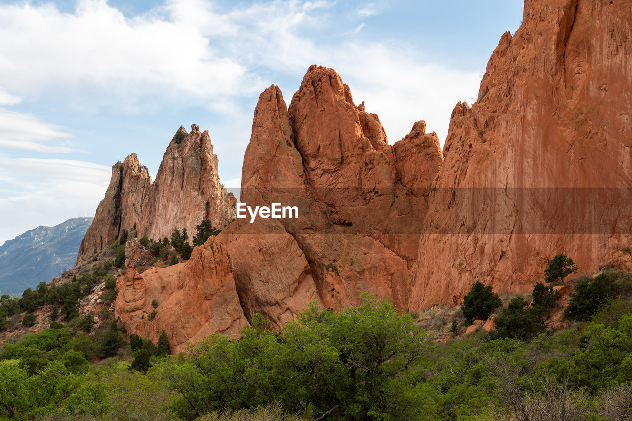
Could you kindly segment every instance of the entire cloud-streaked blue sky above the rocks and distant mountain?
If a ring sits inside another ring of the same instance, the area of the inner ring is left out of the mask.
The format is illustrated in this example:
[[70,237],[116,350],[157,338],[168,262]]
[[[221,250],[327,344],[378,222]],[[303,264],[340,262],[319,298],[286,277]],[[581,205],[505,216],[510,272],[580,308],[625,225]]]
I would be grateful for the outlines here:
[[238,186],[258,94],[289,105],[332,67],[394,143],[423,119],[444,141],[522,1],[0,1],[0,244],[94,216],[111,166],[155,174],[180,125],[209,130]]

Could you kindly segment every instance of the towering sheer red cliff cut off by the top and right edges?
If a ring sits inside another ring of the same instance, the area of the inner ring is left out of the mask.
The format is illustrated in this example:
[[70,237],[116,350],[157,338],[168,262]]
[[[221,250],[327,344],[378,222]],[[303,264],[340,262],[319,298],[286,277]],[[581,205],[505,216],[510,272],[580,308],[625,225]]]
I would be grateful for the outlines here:
[[459,302],[477,279],[529,290],[556,253],[590,272],[628,244],[630,6],[525,2],[478,101],[454,108],[411,308]]

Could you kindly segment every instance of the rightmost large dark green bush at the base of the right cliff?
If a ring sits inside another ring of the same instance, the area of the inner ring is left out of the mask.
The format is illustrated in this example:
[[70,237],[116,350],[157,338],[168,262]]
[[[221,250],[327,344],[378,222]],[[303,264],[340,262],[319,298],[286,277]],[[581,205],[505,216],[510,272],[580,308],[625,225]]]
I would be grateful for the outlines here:
[[599,308],[607,305],[616,296],[615,281],[614,272],[604,272],[592,282],[589,279],[580,281],[571,294],[564,316],[570,320],[590,320]]

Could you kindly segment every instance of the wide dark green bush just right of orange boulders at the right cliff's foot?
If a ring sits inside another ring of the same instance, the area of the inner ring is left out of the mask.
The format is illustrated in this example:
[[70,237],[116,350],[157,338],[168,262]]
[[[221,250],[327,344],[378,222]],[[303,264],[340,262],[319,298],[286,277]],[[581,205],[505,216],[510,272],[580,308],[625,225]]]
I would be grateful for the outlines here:
[[490,336],[530,341],[543,333],[546,330],[544,312],[540,307],[528,307],[528,304],[519,296],[513,298],[494,319],[496,328]]

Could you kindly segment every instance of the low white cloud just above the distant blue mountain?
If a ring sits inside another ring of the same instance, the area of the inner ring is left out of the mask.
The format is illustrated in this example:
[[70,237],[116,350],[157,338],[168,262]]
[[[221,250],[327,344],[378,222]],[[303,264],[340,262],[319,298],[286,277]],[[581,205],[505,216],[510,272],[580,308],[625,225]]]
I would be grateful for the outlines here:
[[11,221],[0,225],[0,245],[40,224],[94,216],[110,175],[90,162],[0,156],[0,215]]

